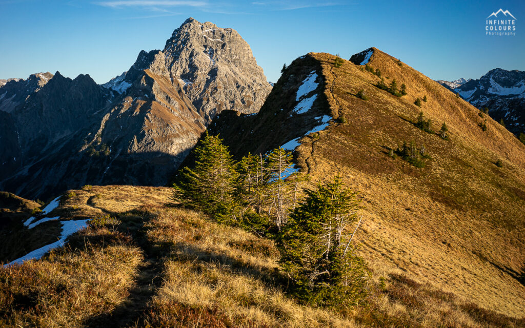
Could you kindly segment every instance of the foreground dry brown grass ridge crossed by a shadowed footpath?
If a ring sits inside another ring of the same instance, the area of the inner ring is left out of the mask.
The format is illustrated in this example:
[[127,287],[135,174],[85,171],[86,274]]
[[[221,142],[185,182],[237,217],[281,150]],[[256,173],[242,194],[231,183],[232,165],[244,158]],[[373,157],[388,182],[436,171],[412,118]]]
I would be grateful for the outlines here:
[[93,186],[75,194],[56,213],[114,219],[41,260],[1,268],[0,326],[525,326],[376,263],[368,306],[314,309],[286,294],[271,240],[173,207],[170,188]]

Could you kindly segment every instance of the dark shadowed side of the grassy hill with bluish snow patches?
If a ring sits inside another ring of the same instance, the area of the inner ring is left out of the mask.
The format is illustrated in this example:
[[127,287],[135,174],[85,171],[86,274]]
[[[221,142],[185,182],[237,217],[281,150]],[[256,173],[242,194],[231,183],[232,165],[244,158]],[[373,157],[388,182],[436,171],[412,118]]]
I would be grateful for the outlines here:
[[235,157],[280,146],[292,150],[302,137],[332,122],[324,83],[319,61],[312,54],[301,56],[275,83],[257,114],[225,111],[209,126],[209,133],[220,134]]

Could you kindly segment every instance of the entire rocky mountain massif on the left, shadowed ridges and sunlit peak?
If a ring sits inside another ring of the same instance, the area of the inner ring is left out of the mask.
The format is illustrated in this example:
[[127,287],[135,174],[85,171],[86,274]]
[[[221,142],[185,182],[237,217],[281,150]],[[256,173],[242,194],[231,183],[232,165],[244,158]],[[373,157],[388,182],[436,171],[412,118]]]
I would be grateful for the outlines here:
[[270,90],[235,30],[193,18],[102,86],[58,72],[9,81],[0,189],[47,199],[85,184],[163,185],[215,115],[257,112]]

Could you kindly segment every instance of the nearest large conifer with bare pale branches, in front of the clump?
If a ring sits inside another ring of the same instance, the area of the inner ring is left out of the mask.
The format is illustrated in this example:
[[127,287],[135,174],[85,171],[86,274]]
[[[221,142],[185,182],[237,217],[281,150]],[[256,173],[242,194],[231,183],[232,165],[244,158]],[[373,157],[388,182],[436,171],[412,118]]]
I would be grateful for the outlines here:
[[351,245],[358,224],[356,193],[341,178],[306,190],[306,198],[290,216],[278,238],[280,263],[299,298],[315,305],[359,303],[370,277]]

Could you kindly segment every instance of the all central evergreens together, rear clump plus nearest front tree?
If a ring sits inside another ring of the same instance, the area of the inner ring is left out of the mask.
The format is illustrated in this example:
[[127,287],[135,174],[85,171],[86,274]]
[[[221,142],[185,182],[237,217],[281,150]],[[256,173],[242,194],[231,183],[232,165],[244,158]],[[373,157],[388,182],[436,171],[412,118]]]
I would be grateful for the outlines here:
[[343,308],[363,302],[370,271],[351,244],[359,201],[340,177],[299,198],[308,177],[289,174],[291,152],[282,148],[235,162],[222,140],[206,133],[195,157],[174,184],[176,202],[275,238],[288,291],[302,302]]

